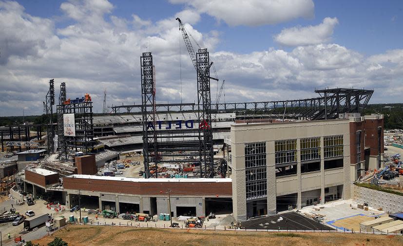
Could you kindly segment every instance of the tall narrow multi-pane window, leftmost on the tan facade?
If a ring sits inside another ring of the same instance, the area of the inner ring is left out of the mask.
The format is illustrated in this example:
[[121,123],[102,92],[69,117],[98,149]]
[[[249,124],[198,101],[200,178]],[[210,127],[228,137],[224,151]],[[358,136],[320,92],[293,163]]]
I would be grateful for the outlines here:
[[246,199],[267,196],[266,142],[245,144]]

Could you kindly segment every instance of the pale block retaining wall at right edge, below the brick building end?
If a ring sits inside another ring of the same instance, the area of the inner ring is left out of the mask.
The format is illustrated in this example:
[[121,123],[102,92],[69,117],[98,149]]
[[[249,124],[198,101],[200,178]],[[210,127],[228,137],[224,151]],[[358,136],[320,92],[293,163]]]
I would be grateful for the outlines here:
[[375,209],[382,208],[388,212],[403,211],[403,196],[396,195],[377,190],[368,189],[365,187],[354,186],[354,199],[358,203],[368,203],[368,206]]

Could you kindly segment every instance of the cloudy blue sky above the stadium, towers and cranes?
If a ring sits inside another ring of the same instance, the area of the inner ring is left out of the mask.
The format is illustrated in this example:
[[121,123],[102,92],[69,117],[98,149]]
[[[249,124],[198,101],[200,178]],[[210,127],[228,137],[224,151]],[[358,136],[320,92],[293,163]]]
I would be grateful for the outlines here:
[[[141,104],[140,56],[151,51],[158,103],[197,101],[176,17],[208,48],[220,102],[317,97],[367,88],[403,103],[401,0],[0,0],[0,116],[38,115],[48,82],[94,112]],[[193,47],[197,48],[193,43]],[[56,106],[55,106],[56,108]]]

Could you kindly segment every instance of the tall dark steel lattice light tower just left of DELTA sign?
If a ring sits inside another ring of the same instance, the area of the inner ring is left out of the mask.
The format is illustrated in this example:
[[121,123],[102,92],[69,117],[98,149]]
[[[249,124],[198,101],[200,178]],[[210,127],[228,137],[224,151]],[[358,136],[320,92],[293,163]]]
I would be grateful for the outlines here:
[[155,88],[154,88],[154,66],[153,55],[145,52],[140,57],[141,67],[141,102],[143,116],[143,153],[144,172],[146,178],[151,177],[150,163],[154,162],[155,177],[158,176],[158,146],[156,136],[155,119]]

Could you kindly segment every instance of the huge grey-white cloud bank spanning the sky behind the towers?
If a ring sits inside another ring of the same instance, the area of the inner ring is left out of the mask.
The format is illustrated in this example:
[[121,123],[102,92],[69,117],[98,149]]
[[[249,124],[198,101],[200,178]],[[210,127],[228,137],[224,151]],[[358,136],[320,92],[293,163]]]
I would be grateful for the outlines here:
[[[1,116],[21,114],[22,108],[26,114],[42,113],[50,78],[55,78],[56,95],[61,82],[66,82],[67,97],[90,93],[94,112],[102,110],[105,88],[107,105],[139,104],[139,56],[149,50],[156,67],[157,102],[180,102],[181,96],[183,102],[194,102],[195,71],[175,21],[184,15],[191,22],[185,24],[187,30],[209,48],[219,78],[226,81],[221,102],[314,97],[315,87],[327,86],[375,88],[371,102],[393,102],[395,99],[388,97],[390,91],[403,93],[403,50],[370,57],[340,44],[313,44],[291,51],[269,48],[246,54],[216,51],[220,33],[195,29],[192,25],[201,17],[192,9],[150,21],[136,13],[129,18],[113,16],[114,6],[107,1],[87,3],[62,4],[69,25],[55,28],[55,18],[30,16],[19,3],[0,1]],[[221,81],[218,85],[211,82],[212,98]]]

